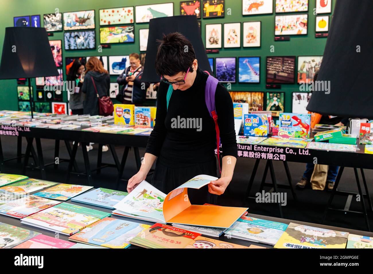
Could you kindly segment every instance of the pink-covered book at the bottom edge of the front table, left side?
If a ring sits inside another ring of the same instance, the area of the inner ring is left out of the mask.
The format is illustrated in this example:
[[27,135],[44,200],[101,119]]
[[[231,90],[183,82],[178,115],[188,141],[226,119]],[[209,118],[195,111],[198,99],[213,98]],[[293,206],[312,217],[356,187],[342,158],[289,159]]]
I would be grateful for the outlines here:
[[26,242],[21,243],[14,248],[71,248],[75,243],[39,234]]

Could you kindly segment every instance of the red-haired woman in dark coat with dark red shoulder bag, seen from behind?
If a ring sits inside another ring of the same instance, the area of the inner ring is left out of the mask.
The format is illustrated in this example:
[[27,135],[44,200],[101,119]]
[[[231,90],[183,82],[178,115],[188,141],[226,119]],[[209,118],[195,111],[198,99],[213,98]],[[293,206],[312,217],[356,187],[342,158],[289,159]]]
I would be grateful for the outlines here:
[[[91,57],[85,64],[86,72],[82,92],[85,93],[83,103],[83,113],[94,115],[110,115],[113,113],[113,103],[110,100],[110,76],[109,72],[104,69],[97,57]],[[93,149],[91,145],[87,150]],[[107,146],[102,147],[102,151],[107,151]]]

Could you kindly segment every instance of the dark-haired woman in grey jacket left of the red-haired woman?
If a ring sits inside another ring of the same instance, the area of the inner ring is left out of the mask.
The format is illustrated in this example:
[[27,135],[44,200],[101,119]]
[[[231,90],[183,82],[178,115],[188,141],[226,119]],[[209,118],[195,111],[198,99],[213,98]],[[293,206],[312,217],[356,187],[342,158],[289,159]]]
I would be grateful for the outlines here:
[[70,109],[72,111],[72,114],[83,114],[83,101],[84,101],[84,94],[81,92],[81,88],[83,86],[83,79],[82,74],[84,72],[84,63],[79,60],[75,59],[72,66],[69,69],[68,76],[66,77],[66,81],[71,81],[74,86],[72,90],[69,90],[70,92]]

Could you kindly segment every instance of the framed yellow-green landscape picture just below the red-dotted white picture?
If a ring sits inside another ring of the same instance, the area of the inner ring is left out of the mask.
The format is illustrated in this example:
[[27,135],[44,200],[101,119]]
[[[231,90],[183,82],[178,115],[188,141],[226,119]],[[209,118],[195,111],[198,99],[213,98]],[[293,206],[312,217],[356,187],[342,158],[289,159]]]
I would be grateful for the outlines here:
[[100,28],[100,43],[133,43],[135,42],[134,26],[108,26]]

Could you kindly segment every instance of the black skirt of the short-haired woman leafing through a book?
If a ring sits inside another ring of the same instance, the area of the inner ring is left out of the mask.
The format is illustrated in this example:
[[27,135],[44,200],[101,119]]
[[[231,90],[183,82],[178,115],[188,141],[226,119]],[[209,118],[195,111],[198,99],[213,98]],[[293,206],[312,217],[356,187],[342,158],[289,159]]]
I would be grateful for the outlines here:
[[[206,174],[217,177],[216,159],[205,163],[179,163],[158,157],[151,185],[168,194],[194,176]],[[209,192],[208,186],[200,189],[188,189],[192,205],[216,204],[217,195]]]

